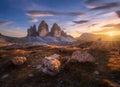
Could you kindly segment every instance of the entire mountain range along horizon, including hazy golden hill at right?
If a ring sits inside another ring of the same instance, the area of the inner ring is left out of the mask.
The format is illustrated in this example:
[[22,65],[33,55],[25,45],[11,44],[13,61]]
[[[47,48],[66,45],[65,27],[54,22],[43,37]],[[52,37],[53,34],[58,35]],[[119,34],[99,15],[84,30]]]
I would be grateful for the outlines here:
[[[89,42],[96,41],[98,39],[103,40],[111,40],[111,37],[107,37],[105,35],[97,35],[91,33],[83,33],[79,38],[75,39],[70,35],[67,35],[57,23],[54,23],[51,30],[49,31],[48,24],[43,20],[38,28],[36,25],[31,26],[27,29],[26,37],[9,37],[0,34],[0,43],[17,43],[17,44],[26,44],[30,43],[35,45],[37,44],[56,44],[56,45],[64,45],[71,44],[77,42]],[[113,40],[120,41],[120,37],[116,36]]]

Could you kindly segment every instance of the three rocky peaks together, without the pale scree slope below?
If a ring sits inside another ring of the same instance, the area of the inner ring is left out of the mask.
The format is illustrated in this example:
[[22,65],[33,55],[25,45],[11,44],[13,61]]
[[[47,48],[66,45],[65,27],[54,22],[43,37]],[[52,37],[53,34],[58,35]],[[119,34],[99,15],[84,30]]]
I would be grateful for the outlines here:
[[45,37],[45,36],[53,36],[53,37],[67,37],[68,35],[61,30],[60,26],[58,26],[57,23],[54,23],[51,31],[49,32],[49,27],[48,24],[43,20],[41,21],[40,25],[38,26],[38,30],[36,29],[36,25],[31,26],[27,30],[27,36],[40,36],[40,37]]

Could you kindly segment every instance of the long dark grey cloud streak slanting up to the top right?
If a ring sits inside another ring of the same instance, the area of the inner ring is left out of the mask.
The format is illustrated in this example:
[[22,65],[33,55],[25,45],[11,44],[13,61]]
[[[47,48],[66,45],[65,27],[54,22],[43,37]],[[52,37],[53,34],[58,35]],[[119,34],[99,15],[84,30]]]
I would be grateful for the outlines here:
[[104,9],[110,9],[110,8],[119,7],[119,6],[120,6],[120,3],[113,2],[113,3],[107,3],[102,6],[91,8],[90,10],[104,10]]

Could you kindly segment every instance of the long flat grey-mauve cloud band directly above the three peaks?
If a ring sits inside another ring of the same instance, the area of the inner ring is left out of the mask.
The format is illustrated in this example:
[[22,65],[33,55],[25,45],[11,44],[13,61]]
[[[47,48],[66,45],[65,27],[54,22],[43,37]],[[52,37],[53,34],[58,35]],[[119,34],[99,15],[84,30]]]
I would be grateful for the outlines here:
[[40,10],[29,10],[27,11],[28,16],[41,17],[41,16],[80,16],[82,12],[56,12],[56,11],[40,11]]

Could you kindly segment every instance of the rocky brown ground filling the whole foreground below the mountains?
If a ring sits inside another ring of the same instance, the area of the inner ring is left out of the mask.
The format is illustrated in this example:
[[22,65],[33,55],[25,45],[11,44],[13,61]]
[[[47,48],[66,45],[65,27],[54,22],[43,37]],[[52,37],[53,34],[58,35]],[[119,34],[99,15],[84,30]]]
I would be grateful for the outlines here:
[[[84,57],[85,61],[79,60],[80,53],[88,55]],[[52,65],[44,67],[53,72],[61,65],[56,74],[40,71],[37,67],[41,61],[45,57],[51,59],[53,54],[60,55],[56,59],[60,64],[50,60],[48,63]],[[19,57],[24,57],[22,63]],[[94,58],[93,61],[88,61],[89,57]],[[13,58],[18,62],[14,63]],[[0,48],[0,87],[120,87],[120,55],[116,50],[81,49],[78,46]]]

